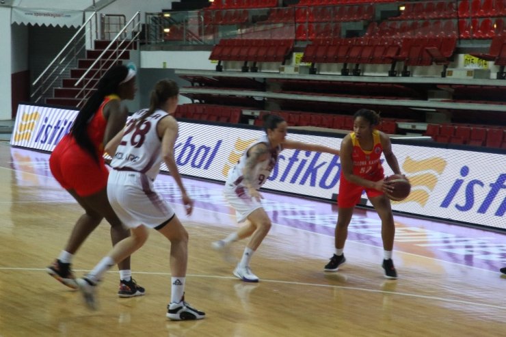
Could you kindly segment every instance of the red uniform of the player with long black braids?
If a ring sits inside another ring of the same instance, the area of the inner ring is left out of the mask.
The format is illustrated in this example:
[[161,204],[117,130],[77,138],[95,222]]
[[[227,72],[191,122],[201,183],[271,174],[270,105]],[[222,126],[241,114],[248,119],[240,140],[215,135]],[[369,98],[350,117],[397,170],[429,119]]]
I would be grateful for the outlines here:
[[70,133],[56,145],[49,158],[49,168],[64,189],[73,189],[78,196],[86,197],[107,187],[109,171],[103,159],[107,120],[103,108],[109,101],[119,99],[117,95],[106,96],[88,124],[88,136],[96,149],[98,163],[87,150],[77,144]]

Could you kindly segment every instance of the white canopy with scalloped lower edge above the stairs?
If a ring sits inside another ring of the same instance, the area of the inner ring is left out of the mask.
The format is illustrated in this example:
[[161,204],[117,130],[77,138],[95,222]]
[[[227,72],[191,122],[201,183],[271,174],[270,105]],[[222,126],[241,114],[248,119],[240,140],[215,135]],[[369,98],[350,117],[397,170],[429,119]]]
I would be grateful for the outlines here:
[[93,0],[14,0],[11,23],[79,27],[83,24],[84,10],[93,3]]

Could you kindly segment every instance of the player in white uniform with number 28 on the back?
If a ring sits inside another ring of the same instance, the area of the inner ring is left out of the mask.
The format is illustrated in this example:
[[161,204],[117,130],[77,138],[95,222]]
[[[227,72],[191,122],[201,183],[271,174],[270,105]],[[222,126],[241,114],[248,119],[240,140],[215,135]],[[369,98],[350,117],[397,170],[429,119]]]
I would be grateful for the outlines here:
[[151,93],[150,108],[135,113],[124,131],[105,148],[107,153],[114,153],[107,197],[124,226],[130,228],[131,237],[117,243],[90,273],[77,280],[90,308],[96,308],[95,289],[105,271],[142,247],[148,239],[148,228],[155,228],[171,243],[171,302],[166,316],[175,321],[205,316],[204,312],[191,308],[184,297],[188,233],[153,186],[163,160],[181,189],[187,214],[191,214],[193,201],[186,193],[174,160],[178,124],[171,114],[176,110],[178,93],[174,81],[159,81]]

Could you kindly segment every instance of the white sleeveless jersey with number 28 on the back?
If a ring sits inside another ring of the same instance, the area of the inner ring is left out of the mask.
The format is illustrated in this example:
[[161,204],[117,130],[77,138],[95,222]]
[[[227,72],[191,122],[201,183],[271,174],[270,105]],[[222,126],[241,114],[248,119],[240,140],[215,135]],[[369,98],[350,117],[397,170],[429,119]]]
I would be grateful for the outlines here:
[[169,113],[157,109],[144,122],[137,123],[146,111],[137,111],[127,122],[111,167],[118,171],[141,172],[155,180],[161,163],[161,139],[158,137],[157,124]]

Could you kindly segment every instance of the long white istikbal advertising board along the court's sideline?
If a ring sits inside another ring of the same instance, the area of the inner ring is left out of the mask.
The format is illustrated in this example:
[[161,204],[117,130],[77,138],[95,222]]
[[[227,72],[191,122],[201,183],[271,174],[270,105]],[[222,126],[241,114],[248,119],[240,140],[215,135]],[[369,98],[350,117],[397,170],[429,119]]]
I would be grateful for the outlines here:
[[[11,144],[53,150],[77,111],[20,105]],[[256,129],[180,122],[176,163],[181,174],[224,181],[243,150],[263,134]],[[338,148],[341,138],[289,133],[289,139]],[[395,211],[506,230],[506,154],[392,144],[410,196]],[[386,174],[391,174],[384,163]],[[163,165],[162,170],[167,171]],[[332,154],[284,150],[265,189],[332,200],[341,161]],[[369,206],[371,204],[368,202]]]

